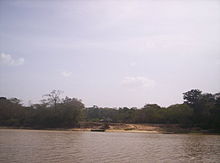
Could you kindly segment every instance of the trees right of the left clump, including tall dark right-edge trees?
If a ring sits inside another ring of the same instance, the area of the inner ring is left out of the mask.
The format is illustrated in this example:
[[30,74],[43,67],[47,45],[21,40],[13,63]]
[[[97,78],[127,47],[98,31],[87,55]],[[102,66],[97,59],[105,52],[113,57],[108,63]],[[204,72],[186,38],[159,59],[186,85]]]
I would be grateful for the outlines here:
[[160,107],[146,104],[143,108],[99,108],[85,110],[85,120],[99,121],[109,117],[122,123],[168,123],[182,127],[201,127],[220,130],[220,93],[202,93],[192,89],[183,93],[183,104]]

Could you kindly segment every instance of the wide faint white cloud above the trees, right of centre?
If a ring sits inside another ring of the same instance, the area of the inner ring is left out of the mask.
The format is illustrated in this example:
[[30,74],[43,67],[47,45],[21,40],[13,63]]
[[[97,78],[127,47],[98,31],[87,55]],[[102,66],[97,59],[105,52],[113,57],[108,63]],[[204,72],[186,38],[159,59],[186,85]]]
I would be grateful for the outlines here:
[[138,88],[153,88],[155,86],[155,81],[143,76],[136,76],[125,77],[121,84],[128,87],[129,89],[135,90]]

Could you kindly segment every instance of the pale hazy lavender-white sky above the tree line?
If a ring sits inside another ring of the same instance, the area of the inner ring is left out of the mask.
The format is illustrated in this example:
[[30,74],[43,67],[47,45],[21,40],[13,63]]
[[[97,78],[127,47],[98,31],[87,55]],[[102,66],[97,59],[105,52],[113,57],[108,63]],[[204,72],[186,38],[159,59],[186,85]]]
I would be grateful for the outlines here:
[[219,0],[0,0],[0,96],[169,106],[219,83]]

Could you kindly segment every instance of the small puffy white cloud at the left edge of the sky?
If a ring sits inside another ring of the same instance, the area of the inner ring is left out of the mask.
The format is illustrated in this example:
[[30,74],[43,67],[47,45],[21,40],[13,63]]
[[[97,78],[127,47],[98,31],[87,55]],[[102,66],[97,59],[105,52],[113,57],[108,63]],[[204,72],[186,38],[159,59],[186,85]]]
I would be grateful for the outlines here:
[[10,54],[0,54],[0,65],[20,66],[24,64],[24,58],[14,59]]

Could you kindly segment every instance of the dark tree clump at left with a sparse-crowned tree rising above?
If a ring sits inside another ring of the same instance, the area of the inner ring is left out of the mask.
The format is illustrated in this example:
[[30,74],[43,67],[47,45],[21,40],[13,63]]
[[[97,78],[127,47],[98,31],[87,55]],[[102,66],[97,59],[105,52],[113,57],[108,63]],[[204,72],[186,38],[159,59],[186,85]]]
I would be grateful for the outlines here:
[[[84,104],[76,98],[60,98],[61,91],[46,95],[41,104],[25,107],[18,99],[0,98],[0,125],[33,128],[75,127]],[[55,109],[54,109],[55,108]]]

